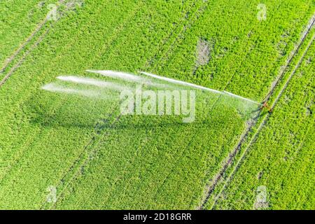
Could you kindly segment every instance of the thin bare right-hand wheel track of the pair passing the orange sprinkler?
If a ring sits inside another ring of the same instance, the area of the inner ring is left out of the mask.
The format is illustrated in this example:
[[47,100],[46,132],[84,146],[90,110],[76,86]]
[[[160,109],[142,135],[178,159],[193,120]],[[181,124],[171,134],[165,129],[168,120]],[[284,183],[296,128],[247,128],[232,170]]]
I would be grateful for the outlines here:
[[[295,72],[297,71],[297,69],[299,69],[300,64],[302,63],[304,56],[307,54],[309,47],[311,46],[311,44],[313,43],[315,38],[315,34],[314,36],[311,38],[311,41],[309,43],[309,45],[307,46],[307,49],[304,51],[304,53],[302,54],[302,57],[300,58],[299,62],[297,63],[297,65],[295,66],[295,68],[293,69],[293,71],[291,72],[290,76],[288,77],[288,79],[286,80],[286,83],[284,84],[284,86],[281,88],[279,94],[276,96],[276,99],[274,100],[274,103],[272,104],[271,108],[274,109],[274,107],[276,106],[277,102],[279,101],[279,99],[281,98],[281,96],[283,95],[283,92],[286,90],[286,87],[288,87],[288,84],[290,83],[290,80],[293,78],[293,75],[295,74]],[[214,199],[214,203],[211,207],[211,209],[214,209],[214,206],[216,205],[216,202],[218,201],[218,198],[221,196],[221,194],[223,193],[223,190],[226,188],[226,186],[228,186],[228,183],[230,183],[232,177],[235,175],[235,173],[237,172],[237,170],[239,169],[241,162],[244,160],[246,154],[248,153],[248,150],[250,148],[250,146],[252,146],[253,142],[257,139],[258,134],[260,134],[260,131],[262,130],[262,127],[265,126],[265,123],[267,122],[268,118],[269,118],[269,113],[267,113],[267,115],[262,119],[260,125],[258,126],[258,129],[255,131],[255,133],[253,134],[253,137],[251,137],[251,140],[248,142],[248,144],[246,144],[246,148],[244,149],[244,152],[241,153],[241,156],[239,158],[239,160],[237,160],[237,163],[234,167],[234,169],[232,169],[231,174],[228,176],[228,178],[226,179],[223,187],[221,188],[221,190],[219,191],[218,195],[216,195],[215,199]],[[249,130],[249,132],[251,132],[251,130]],[[248,134],[249,134],[248,132]],[[242,139],[242,141],[239,144],[239,147],[241,147],[241,144],[244,143],[245,139]],[[239,148],[237,148],[237,151],[239,151]],[[226,171],[226,170],[225,170]],[[223,172],[223,174],[225,174],[225,172]],[[223,175],[221,176],[223,177]],[[220,181],[220,180],[218,180]],[[216,186],[214,186],[216,187]],[[206,202],[207,203],[207,202]]]

